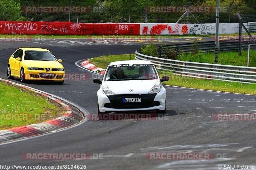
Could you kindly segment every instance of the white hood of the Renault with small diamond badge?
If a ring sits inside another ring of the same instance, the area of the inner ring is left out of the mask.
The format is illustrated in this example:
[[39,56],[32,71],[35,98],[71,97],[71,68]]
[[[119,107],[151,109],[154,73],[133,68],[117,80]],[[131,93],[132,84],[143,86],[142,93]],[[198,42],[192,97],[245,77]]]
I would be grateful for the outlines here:
[[148,93],[149,90],[151,90],[157,82],[158,82],[158,79],[155,79],[155,80],[105,81],[104,83],[116,95],[120,95],[120,94]]

